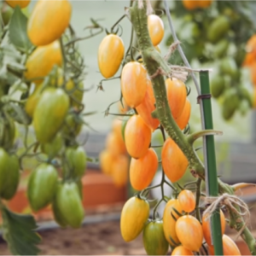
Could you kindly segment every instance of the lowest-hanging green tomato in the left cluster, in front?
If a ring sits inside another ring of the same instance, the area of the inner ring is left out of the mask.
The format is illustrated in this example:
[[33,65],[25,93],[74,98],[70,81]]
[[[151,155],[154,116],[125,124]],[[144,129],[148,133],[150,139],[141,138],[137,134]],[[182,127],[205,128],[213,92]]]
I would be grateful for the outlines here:
[[63,183],[57,188],[55,204],[65,223],[73,228],[79,228],[84,219],[84,207],[76,183]]

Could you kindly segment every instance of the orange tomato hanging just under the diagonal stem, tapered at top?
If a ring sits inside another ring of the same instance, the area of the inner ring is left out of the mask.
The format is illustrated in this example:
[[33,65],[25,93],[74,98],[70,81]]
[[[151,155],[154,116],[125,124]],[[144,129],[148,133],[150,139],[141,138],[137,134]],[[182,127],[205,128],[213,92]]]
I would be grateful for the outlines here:
[[175,183],[183,177],[188,165],[189,162],[183,151],[171,137],[167,138],[162,148],[162,166],[166,176]]

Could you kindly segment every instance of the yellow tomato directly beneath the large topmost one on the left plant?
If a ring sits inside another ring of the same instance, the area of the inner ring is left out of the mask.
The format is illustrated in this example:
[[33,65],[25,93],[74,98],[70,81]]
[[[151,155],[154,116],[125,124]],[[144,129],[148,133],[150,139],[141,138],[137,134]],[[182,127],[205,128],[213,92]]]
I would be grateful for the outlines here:
[[40,46],[29,55],[26,61],[26,79],[32,79],[35,84],[41,84],[52,68],[62,65],[61,45],[59,41]]

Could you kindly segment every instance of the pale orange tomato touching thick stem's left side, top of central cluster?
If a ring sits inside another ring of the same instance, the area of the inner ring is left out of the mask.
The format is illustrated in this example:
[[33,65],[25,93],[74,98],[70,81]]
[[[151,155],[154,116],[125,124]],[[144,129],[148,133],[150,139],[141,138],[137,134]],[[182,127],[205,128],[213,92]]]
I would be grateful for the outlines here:
[[121,90],[129,107],[136,108],[143,102],[147,84],[147,71],[142,64],[131,61],[125,65],[121,76]]

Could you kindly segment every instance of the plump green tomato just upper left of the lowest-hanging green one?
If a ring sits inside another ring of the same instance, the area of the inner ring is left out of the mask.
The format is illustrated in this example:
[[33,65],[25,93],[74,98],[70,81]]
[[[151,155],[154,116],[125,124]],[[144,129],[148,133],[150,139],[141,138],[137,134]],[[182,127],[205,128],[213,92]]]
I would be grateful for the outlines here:
[[27,196],[34,211],[47,207],[53,200],[57,181],[58,172],[49,164],[41,164],[32,172],[27,184]]

